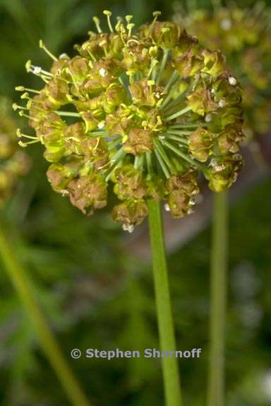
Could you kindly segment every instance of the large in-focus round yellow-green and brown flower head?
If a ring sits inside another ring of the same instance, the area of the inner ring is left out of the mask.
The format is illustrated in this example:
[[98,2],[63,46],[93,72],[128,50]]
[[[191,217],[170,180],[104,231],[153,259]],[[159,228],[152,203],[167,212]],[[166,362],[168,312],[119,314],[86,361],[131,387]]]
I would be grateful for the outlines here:
[[[119,204],[113,219],[131,231],[161,199],[172,216],[191,213],[202,172],[212,190],[236,180],[242,159],[241,89],[224,56],[200,46],[183,28],[154,20],[135,30],[132,16],[97,32],[49,70],[26,63],[41,90],[17,87],[35,136],[18,130],[20,145],[44,145],[47,177],[83,213],[107,204],[108,184]],[[64,109],[65,108],[65,109]]]

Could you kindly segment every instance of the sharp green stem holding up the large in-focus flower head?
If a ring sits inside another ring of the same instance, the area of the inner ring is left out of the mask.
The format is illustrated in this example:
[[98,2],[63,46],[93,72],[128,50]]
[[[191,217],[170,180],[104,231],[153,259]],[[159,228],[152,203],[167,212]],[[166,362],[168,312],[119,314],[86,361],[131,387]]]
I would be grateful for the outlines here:
[[[162,351],[175,351],[174,323],[171,314],[167,260],[164,247],[162,215],[159,202],[148,201],[150,243],[152,247],[152,267],[155,281],[155,298]],[[167,406],[181,406],[181,386],[176,357],[162,358],[164,391]]]

